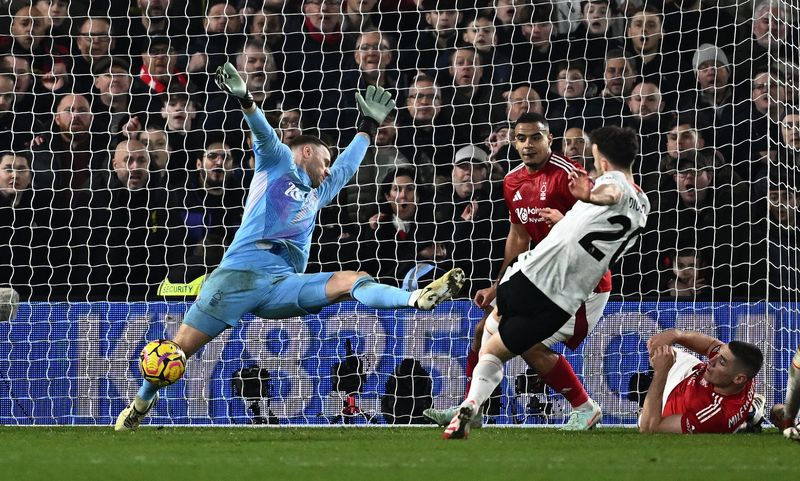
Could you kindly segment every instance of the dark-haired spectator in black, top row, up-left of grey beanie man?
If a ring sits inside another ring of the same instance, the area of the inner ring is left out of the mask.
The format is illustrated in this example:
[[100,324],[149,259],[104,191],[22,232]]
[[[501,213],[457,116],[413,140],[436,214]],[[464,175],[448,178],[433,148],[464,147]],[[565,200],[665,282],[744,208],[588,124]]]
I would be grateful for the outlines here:
[[680,76],[675,68],[678,57],[674,46],[663,42],[662,19],[651,6],[637,10],[628,20],[626,49],[641,77],[658,88],[671,110]]

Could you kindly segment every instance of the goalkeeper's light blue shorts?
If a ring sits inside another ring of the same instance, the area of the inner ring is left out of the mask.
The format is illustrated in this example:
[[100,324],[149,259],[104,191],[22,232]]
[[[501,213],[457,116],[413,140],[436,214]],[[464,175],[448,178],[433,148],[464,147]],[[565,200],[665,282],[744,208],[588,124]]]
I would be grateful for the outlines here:
[[332,272],[271,274],[218,268],[206,279],[183,322],[216,337],[247,313],[265,319],[316,314],[331,304],[325,284]]

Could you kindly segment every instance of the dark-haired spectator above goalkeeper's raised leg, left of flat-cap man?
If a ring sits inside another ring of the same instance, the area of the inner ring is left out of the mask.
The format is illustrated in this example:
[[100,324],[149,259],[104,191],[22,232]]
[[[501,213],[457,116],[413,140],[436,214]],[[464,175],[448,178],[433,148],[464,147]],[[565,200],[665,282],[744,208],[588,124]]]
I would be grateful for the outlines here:
[[383,178],[379,213],[363,230],[359,247],[364,270],[382,283],[400,286],[418,262],[448,257],[444,245],[434,239],[433,203],[415,177],[414,169],[399,167]]

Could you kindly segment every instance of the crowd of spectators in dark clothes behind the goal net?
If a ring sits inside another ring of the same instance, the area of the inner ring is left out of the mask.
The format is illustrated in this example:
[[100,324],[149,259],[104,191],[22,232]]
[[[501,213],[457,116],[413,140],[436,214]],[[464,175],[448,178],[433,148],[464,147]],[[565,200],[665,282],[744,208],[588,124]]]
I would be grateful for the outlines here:
[[796,300],[798,15],[702,0],[13,1],[0,22],[0,284],[32,299],[144,299],[220,261],[252,139],[213,82],[230,61],[280,139],[356,133],[355,93],[397,99],[325,208],[309,270],[413,287],[496,277],[514,121],[591,170],[631,127],[650,225],[624,296]]

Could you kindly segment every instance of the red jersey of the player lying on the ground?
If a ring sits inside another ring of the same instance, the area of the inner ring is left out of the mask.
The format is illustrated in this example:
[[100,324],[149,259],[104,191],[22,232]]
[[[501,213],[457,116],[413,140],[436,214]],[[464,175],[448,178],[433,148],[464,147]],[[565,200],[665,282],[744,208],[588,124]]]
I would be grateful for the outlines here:
[[[716,356],[713,352],[711,357]],[[681,415],[684,433],[732,433],[747,420],[753,403],[753,380],[736,394],[723,396],[703,379],[708,363],[701,362],[669,393],[663,416]]]

